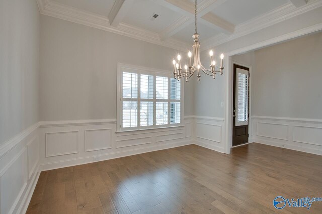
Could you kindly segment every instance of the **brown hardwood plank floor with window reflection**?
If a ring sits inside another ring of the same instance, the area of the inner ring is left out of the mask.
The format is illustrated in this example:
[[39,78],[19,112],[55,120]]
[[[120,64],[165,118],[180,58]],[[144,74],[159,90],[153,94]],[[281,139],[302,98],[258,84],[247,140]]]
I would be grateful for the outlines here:
[[196,145],[40,174],[27,213],[321,213],[276,196],[322,197],[322,156],[252,143],[231,155]]

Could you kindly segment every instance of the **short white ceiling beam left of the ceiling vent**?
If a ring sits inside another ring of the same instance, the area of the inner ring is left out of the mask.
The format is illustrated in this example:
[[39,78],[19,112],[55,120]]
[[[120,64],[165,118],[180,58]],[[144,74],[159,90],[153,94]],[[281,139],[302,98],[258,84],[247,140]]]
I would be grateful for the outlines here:
[[134,0],[116,0],[108,15],[110,25],[117,27],[131,9],[133,3]]

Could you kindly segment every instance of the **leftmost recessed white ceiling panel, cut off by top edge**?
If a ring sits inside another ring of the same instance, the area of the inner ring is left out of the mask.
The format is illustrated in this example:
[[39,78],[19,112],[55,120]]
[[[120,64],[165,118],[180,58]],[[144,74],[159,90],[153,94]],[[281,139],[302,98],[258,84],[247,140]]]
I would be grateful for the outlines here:
[[88,11],[102,16],[108,16],[115,0],[54,0],[58,3]]

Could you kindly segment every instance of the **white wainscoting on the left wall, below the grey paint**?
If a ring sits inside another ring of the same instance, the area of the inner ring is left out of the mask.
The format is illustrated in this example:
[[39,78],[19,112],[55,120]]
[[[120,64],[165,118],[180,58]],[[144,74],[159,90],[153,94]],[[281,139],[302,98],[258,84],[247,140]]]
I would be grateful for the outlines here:
[[25,213],[39,177],[39,123],[0,147],[0,213]]

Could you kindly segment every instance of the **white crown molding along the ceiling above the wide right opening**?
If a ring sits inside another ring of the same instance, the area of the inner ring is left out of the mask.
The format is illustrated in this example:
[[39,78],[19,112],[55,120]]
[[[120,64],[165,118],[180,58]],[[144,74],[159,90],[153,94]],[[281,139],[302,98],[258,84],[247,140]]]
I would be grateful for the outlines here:
[[237,25],[235,27],[235,32],[232,35],[227,36],[221,33],[217,36],[204,40],[202,43],[201,51],[229,42],[263,28],[272,26],[321,6],[321,0],[313,0],[300,8],[296,8],[292,3],[287,3],[261,16],[255,17],[247,22]]

